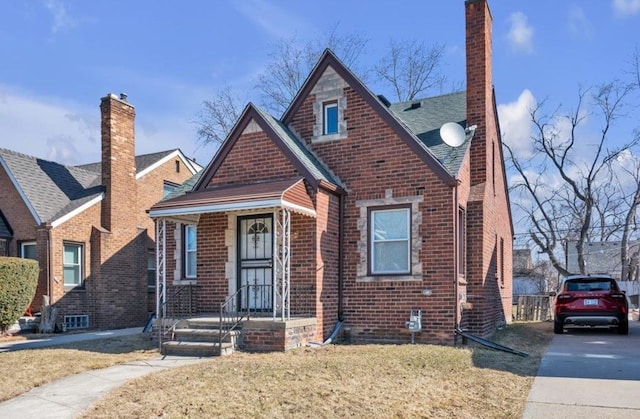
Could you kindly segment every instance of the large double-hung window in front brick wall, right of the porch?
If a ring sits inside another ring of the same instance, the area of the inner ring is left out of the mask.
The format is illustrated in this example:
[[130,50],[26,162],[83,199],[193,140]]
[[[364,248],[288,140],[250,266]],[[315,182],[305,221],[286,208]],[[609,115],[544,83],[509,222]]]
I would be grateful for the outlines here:
[[370,210],[371,275],[400,275],[411,272],[410,217],[409,208]]

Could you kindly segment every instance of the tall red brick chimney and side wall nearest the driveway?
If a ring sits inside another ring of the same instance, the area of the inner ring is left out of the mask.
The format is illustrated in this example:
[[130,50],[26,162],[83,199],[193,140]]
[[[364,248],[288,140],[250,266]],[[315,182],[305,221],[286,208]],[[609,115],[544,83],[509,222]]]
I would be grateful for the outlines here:
[[470,150],[473,190],[467,213],[468,297],[473,308],[464,313],[463,322],[471,331],[489,335],[511,321],[513,231],[494,107],[492,18],[486,1],[466,5],[466,22],[467,123],[477,129]]

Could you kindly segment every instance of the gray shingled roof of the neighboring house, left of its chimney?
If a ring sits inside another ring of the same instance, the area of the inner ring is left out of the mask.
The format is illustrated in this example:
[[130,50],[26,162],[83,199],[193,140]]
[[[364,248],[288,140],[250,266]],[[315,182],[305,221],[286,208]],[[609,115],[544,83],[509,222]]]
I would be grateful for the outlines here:
[[100,175],[0,148],[0,159],[41,222],[52,222],[102,192]]

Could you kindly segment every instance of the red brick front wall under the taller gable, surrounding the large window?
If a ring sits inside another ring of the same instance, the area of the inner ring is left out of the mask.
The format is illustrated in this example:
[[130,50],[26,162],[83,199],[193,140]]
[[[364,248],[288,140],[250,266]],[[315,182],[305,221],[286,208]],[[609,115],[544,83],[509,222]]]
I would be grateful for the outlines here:
[[[352,337],[369,340],[410,339],[405,327],[411,309],[422,309],[424,331],[417,339],[452,342],[456,300],[453,269],[453,192],[385,124],[351,88],[346,88],[346,139],[311,143],[314,95],[310,95],[293,116],[291,125],[313,151],[346,184],[344,304],[346,326]],[[360,217],[358,200],[425,195],[420,204],[424,214],[420,235],[422,281],[358,282],[356,267]],[[431,296],[422,290],[431,289]]]

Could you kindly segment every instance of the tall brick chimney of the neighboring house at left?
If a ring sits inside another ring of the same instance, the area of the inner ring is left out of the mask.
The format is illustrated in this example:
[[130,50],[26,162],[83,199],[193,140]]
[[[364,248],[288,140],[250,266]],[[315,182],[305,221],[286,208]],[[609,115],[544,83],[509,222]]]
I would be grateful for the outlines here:
[[103,97],[102,117],[102,227],[135,229],[137,201],[135,163],[135,110],[127,96],[114,94]]

